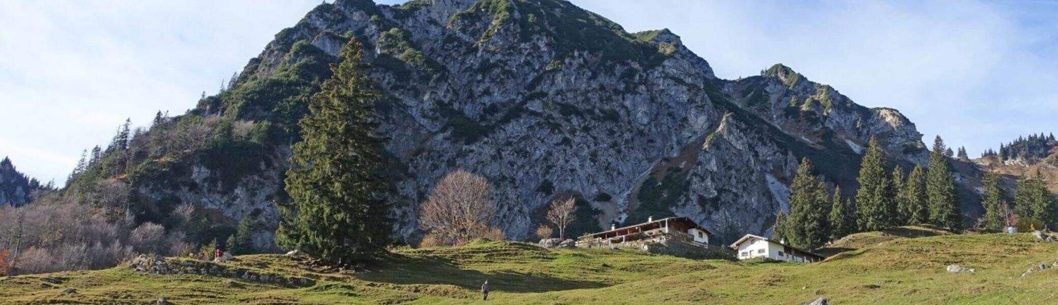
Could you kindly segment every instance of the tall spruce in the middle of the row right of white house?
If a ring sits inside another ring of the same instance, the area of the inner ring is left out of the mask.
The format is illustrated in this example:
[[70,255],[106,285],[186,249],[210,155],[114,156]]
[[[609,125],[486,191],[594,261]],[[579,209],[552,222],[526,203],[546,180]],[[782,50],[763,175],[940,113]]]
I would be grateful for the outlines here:
[[871,137],[860,163],[860,189],[856,193],[856,223],[861,231],[877,231],[893,227],[896,205],[892,180],[886,173],[886,152],[878,140]]

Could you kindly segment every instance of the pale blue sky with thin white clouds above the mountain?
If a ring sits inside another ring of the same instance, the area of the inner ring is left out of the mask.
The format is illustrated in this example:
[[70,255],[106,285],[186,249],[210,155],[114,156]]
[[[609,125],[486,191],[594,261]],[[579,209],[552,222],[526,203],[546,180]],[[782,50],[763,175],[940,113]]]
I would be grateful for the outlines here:
[[[184,113],[320,2],[0,0],[0,157],[61,185],[126,118]],[[782,62],[971,157],[1058,131],[1058,2],[571,2],[670,29],[719,77]]]

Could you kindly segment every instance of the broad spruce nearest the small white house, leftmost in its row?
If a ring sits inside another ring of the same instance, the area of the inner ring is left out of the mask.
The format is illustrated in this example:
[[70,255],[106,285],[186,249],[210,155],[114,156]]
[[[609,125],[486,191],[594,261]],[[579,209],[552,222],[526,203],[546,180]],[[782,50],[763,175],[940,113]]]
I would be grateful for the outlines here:
[[811,161],[802,159],[790,185],[790,214],[785,220],[789,245],[803,249],[823,246],[829,237],[829,208],[823,181],[816,176]]

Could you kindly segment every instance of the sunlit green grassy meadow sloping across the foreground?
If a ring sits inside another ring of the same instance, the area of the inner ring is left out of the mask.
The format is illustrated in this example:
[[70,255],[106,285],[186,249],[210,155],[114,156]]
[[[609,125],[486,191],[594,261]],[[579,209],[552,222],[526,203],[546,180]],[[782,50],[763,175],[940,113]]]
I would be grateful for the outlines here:
[[[316,281],[290,287],[123,266],[0,277],[0,303],[147,304],[165,297],[172,304],[801,304],[825,297],[832,304],[1058,304],[1058,269],[1021,276],[1033,264],[1058,259],[1058,243],[1028,234],[861,234],[844,245],[858,250],[810,265],[509,241],[396,250],[388,262],[357,273],[247,255],[223,265]],[[949,264],[977,272],[949,273]],[[486,279],[492,293],[482,302],[477,290]],[[67,288],[76,292],[63,293]]]

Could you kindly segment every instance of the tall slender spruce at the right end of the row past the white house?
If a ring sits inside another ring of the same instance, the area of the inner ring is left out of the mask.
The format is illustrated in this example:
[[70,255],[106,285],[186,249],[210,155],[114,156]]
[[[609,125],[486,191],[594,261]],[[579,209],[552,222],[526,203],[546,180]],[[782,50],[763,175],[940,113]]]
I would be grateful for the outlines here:
[[929,198],[930,222],[951,230],[963,227],[959,199],[955,197],[955,177],[948,163],[948,150],[941,136],[933,139],[933,151],[929,157],[926,193]]

